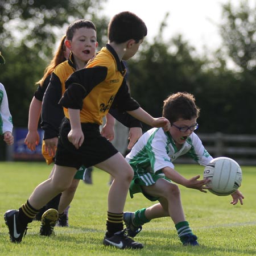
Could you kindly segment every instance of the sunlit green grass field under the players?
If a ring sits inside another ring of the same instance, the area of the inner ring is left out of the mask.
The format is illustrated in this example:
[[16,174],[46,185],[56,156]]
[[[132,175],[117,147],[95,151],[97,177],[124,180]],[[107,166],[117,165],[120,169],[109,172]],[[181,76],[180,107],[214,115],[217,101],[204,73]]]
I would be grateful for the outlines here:
[[[203,174],[203,167],[177,165],[185,177]],[[94,168],[93,185],[80,181],[75,199],[69,209],[69,228],[55,228],[56,236],[39,236],[40,222],[32,222],[22,243],[9,241],[3,214],[18,209],[51,167],[44,163],[0,162],[0,254],[1,255],[174,255],[174,256],[237,256],[256,255],[256,167],[242,167],[240,191],[244,205],[229,204],[231,196],[218,197],[181,187],[184,212],[200,246],[184,247],[177,237],[170,218],[152,220],[143,226],[136,240],[142,250],[119,250],[105,247],[109,175]],[[141,195],[127,198],[125,210],[148,207],[151,202]]]

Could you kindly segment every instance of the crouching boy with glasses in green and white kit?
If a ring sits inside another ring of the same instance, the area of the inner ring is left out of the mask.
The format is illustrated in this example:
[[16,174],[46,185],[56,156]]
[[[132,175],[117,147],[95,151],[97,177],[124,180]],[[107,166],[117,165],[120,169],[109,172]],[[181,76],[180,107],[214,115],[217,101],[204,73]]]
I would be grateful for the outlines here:
[[[148,130],[126,156],[127,162],[134,170],[130,185],[131,198],[135,193],[143,193],[148,200],[159,201],[151,207],[123,214],[128,236],[135,237],[141,231],[142,225],[153,218],[170,216],[183,245],[199,245],[197,237],[185,220],[179,187],[171,182],[172,180],[201,192],[207,192],[205,189],[209,188],[209,180],[199,180],[200,175],[186,179],[175,171],[172,163],[185,154],[203,166],[213,159],[199,137],[193,133],[199,127],[196,122],[199,112],[192,94],[172,94],[164,100],[163,105],[163,117],[170,121],[170,129]],[[241,192],[237,190],[232,197],[233,205],[237,204],[238,200],[242,204]]]

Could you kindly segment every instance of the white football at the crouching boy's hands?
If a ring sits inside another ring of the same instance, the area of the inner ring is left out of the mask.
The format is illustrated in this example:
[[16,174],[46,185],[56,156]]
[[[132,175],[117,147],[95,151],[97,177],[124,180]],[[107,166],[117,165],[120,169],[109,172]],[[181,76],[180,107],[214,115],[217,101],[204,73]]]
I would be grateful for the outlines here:
[[204,178],[210,179],[207,184],[210,192],[217,196],[228,196],[234,193],[242,183],[242,170],[239,164],[221,156],[212,159],[204,168]]

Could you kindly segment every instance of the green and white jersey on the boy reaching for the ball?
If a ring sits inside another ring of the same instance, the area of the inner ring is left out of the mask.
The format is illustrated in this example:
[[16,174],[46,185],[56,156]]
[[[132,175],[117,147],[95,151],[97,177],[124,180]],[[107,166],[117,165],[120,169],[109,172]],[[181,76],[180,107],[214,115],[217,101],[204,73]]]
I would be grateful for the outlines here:
[[180,150],[177,150],[168,131],[164,132],[162,128],[152,128],[139,138],[126,156],[126,160],[136,174],[147,172],[160,174],[164,167],[174,168],[173,162],[181,155],[188,155],[203,166],[213,159],[195,133],[192,133]]

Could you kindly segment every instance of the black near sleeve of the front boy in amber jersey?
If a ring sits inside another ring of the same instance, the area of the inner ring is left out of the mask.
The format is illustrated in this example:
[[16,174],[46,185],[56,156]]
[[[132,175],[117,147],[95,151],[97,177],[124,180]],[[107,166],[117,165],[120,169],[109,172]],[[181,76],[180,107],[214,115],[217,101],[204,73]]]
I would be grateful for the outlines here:
[[106,67],[83,68],[74,72],[65,82],[65,92],[59,104],[64,108],[82,109],[83,100],[107,76]]

